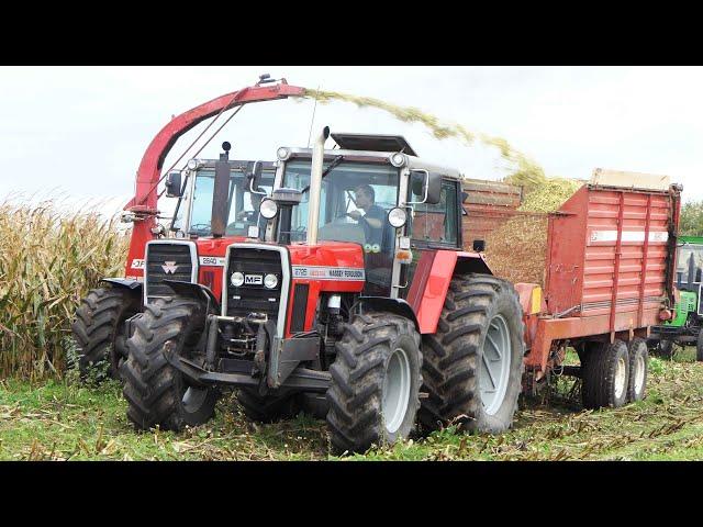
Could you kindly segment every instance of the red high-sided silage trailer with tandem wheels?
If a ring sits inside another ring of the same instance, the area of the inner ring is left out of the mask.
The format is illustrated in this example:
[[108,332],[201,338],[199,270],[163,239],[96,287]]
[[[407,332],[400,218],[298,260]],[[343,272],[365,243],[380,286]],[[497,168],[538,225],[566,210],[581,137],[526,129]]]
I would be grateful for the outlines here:
[[[561,366],[571,346],[581,367],[565,372],[583,379],[587,406],[644,396],[646,338],[673,305],[680,191],[666,177],[599,169],[548,215],[544,288],[515,283],[526,325],[525,389]],[[515,247],[515,259],[521,249],[533,250]],[[613,379],[607,394],[602,385]]]

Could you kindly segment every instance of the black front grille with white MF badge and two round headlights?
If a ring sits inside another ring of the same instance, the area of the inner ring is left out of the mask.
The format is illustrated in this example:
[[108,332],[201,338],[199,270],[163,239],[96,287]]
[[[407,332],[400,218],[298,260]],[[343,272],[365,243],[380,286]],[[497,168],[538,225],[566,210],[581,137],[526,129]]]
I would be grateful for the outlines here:
[[[242,272],[247,279],[242,287],[232,285],[232,273]],[[275,289],[264,287],[266,274],[276,274]],[[227,316],[247,316],[252,313],[265,314],[277,321],[278,307],[283,287],[281,255],[278,250],[255,247],[232,247],[226,273]],[[259,282],[259,283],[252,283]]]

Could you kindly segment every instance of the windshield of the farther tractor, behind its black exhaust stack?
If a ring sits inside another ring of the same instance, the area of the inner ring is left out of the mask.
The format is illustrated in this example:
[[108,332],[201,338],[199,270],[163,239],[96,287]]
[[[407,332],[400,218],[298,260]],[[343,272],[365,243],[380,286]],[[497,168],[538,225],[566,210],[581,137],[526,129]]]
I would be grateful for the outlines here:
[[[214,168],[202,169],[196,176],[193,199],[188,234],[209,236],[212,218],[212,194],[215,181]],[[274,173],[263,172],[258,190],[270,195],[274,188]],[[230,177],[228,216],[225,234],[230,236],[246,236],[249,225],[265,224],[259,217],[259,203],[263,195],[249,192],[249,180],[241,170],[233,169]]]

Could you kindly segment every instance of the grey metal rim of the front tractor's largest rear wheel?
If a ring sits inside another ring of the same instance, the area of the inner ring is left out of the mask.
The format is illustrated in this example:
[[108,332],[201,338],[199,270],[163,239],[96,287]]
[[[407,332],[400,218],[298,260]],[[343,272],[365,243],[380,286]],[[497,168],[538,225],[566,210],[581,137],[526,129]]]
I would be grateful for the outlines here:
[[491,318],[486,334],[479,378],[481,403],[483,411],[489,415],[495,414],[503,405],[510,377],[512,351],[513,345],[507,323],[502,315],[495,315]]

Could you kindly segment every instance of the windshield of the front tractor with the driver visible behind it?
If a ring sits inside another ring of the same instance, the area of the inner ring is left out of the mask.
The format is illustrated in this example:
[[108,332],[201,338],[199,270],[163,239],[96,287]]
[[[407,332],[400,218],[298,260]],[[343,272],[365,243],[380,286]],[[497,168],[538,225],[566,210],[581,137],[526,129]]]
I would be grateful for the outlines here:
[[[310,164],[291,161],[283,175],[283,187],[304,191],[303,201],[293,206],[291,242],[304,242],[308,233]],[[390,165],[339,162],[322,180],[317,238],[354,242],[366,253],[391,254],[394,236],[388,211],[398,203],[398,168]]]

